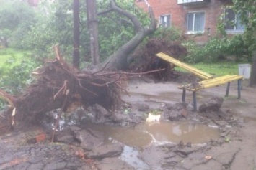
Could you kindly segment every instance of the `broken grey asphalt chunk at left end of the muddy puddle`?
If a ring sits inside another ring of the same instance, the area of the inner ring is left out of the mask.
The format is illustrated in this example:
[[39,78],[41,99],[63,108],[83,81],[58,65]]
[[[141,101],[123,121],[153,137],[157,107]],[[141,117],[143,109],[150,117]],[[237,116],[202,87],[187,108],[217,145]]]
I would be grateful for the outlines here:
[[81,148],[88,151],[102,145],[104,141],[104,133],[92,129],[74,131],[74,136],[81,143]]

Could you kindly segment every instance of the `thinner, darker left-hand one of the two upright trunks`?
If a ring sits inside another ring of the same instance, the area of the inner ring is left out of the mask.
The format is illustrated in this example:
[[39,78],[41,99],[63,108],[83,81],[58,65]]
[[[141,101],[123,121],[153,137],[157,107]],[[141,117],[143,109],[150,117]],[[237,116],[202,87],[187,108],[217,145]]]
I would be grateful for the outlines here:
[[74,36],[74,49],[73,49],[73,65],[74,67],[76,67],[77,69],[79,69],[79,65],[80,65],[80,56],[79,56],[79,37],[80,37],[80,33],[79,33],[79,0],[74,0],[74,10],[73,10],[73,20],[74,20],[74,32],[73,32],[73,36]]

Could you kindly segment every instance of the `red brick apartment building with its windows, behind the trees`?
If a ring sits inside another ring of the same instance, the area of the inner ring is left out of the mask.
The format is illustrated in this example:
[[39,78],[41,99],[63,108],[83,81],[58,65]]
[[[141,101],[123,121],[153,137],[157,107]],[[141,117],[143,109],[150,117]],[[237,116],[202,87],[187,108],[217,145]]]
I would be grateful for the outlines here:
[[[230,0],[148,0],[154,10],[159,26],[176,27],[198,44],[205,44],[208,37],[217,33],[217,24],[223,14],[225,29],[228,34],[241,34],[244,25],[239,16],[228,9]],[[147,11],[142,0],[136,5]]]

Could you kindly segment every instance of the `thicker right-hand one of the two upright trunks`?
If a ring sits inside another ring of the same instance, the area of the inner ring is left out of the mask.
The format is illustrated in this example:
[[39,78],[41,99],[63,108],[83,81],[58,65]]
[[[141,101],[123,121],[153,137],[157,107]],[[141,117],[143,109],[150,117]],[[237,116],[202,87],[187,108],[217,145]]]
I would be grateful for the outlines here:
[[92,64],[97,65],[100,63],[100,55],[96,1],[87,0],[87,27],[90,33]]

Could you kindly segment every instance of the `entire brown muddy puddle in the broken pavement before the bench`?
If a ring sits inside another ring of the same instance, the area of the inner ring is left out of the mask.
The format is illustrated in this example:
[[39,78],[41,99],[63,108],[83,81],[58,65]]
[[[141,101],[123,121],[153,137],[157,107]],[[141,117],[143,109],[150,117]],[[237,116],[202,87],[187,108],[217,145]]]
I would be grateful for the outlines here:
[[103,132],[105,143],[120,142],[136,148],[151,143],[206,143],[219,138],[218,128],[188,122],[140,123],[133,128],[87,123],[86,127]]

